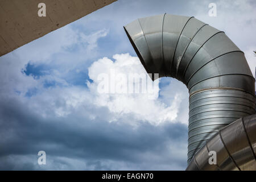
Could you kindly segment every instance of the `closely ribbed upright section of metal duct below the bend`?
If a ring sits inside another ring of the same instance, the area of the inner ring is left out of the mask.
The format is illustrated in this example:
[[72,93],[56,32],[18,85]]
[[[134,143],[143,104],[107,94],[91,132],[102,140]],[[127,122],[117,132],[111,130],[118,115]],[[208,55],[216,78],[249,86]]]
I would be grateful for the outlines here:
[[212,89],[189,97],[188,161],[224,126],[255,113],[255,98],[234,89]]

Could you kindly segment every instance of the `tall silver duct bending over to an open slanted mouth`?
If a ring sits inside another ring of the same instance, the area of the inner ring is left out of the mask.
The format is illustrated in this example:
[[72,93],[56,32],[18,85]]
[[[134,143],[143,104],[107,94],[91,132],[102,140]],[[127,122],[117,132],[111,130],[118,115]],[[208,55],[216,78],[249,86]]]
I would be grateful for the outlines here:
[[147,73],[187,85],[188,163],[221,128],[255,113],[254,77],[244,53],[223,31],[169,14],[140,18],[124,28]]

